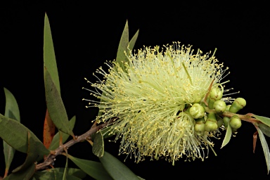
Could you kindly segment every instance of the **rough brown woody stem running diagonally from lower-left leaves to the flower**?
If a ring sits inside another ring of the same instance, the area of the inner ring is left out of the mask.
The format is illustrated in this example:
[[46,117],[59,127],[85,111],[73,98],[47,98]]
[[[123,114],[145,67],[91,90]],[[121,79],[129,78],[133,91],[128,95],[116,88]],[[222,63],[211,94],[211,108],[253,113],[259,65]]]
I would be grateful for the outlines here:
[[96,123],[93,124],[91,129],[89,131],[86,131],[86,133],[82,134],[81,136],[77,136],[75,139],[72,139],[68,141],[68,143],[63,144],[63,146],[59,146],[56,150],[53,150],[50,155],[46,157],[46,160],[44,162],[41,162],[36,166],[36,170],[39,169],[46,169],[49,165],[52,165],[55,161],[55,158],[57,155],[61,155],[65,149],[70,148],[70,146],[73,146],[75,143],[79,143],[81,141],[84,141],[86,139],[89,139],[90,136],[94,133],[96,133],[98,130],[102,129],[103,127],[107,126],[109,122],[105,122],[104,124],[96,126]]

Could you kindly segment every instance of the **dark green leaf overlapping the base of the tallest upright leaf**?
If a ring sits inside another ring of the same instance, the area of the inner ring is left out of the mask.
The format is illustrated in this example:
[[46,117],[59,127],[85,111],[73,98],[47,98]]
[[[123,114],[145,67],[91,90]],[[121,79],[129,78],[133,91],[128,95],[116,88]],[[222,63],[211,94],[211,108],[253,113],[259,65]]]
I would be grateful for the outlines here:
[[70,122],[68,121],[64,103],[59,91],[56,89],[56,85],[53,83],[53,79],[51,79],[49,71],[45,70],[44,78],[46,103],[53,124],[55,124],[60,131],[74,136]]

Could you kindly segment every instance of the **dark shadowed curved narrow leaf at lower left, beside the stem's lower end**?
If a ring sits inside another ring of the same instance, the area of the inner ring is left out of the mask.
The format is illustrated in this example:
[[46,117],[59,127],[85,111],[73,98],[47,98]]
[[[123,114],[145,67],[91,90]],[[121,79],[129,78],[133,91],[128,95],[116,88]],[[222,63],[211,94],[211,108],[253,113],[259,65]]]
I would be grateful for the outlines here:
[[19,172],[27,169],[27,167],[30,167],[30,165],[34,164],[34,162],[37,160],[39,155],[36,151],[36,141],[32,138],[30,132],[28,132],[28,149],[27,149],[27,157],[25,159],[25,162],[23,165],[20,165],[16,169],[13,169],[12,172]]

